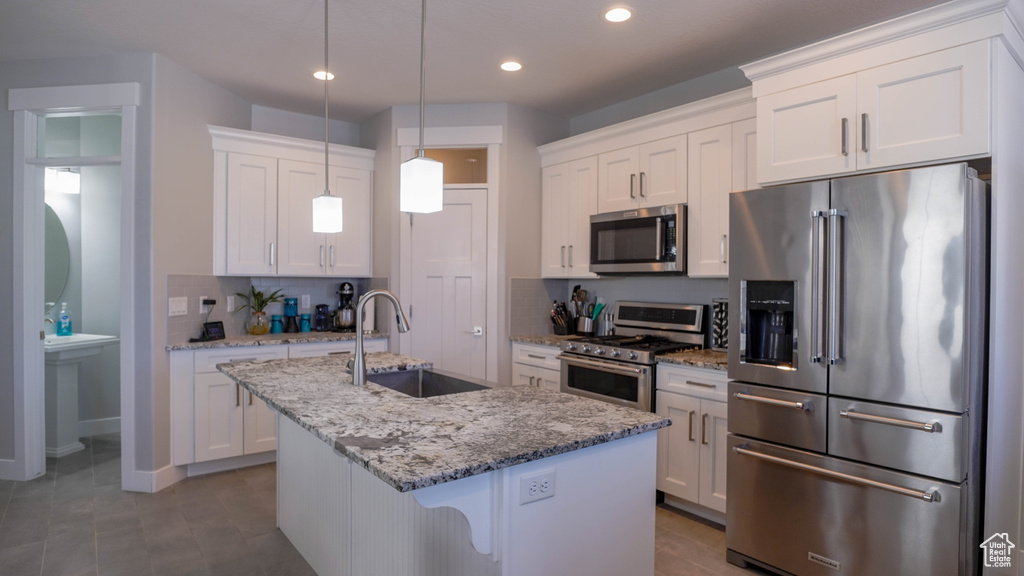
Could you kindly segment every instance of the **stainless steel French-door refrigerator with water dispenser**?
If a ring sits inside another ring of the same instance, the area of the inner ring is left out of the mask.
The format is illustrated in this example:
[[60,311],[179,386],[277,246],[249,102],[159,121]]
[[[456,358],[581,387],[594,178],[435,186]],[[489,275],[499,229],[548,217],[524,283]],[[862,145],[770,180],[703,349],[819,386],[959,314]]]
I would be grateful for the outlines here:
[[966,164],[731,195],[729,562],[980,570],[987,204]]

